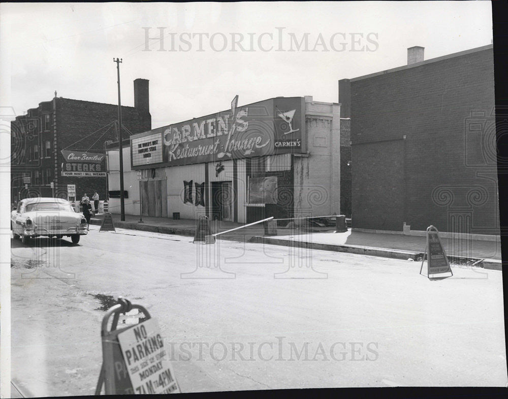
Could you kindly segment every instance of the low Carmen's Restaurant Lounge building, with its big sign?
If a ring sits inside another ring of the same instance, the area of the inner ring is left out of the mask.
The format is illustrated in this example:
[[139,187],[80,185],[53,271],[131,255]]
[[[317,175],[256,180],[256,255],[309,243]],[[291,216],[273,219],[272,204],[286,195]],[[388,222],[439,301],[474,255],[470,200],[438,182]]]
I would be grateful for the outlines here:
[[[125,213],[139,215],[141,189],[148,216],[250,223],[336,214],[340,123],[337,103],[275,97],[133,135],[123,150]],[[118,169],[118,152],[108,162]],[[118,173],[109,178],[119,190]],[[109,208],[119,213],[119,200]]]

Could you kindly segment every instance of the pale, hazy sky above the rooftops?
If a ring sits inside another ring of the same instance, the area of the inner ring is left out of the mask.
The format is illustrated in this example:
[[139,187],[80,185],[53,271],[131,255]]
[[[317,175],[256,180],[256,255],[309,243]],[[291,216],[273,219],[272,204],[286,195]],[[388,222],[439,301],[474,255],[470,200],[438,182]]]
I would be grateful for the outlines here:
[[488,1],[3,3],[0,100],[14,115],[55,91],[117,104],[119,57],[122,105],[148,79],[156,128],[228,110],[236,94],[338,102],[339,79],[405,65],[408,47],[431,59],[491,40]]

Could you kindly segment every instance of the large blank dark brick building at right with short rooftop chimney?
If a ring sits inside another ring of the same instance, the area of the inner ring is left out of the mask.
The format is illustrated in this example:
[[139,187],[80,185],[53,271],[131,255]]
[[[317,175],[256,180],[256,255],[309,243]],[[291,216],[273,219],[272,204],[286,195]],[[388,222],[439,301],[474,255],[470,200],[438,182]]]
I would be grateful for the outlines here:
[[492,45],[339,81],[352,226],[499,235]]

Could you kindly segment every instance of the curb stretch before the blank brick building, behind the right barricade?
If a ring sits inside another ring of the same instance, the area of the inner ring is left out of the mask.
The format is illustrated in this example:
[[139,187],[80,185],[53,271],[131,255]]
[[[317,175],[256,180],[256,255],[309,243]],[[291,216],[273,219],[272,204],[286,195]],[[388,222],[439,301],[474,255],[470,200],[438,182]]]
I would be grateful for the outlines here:
[[[402,249],[388,249],[388,248],[376,248],[369,246],[360,246],[360,245],[336,245],[336,244],[321,244],[321,243],[311,243],[311,242],[302,242],[302,241],[293,241],[293,240],[282,240],[276,238],[267,238],[267,237],[252,237],[249,242],[260,243],[260,244],[271,244],[271,245],[281,245],[281,246],[292,246],[297,248],[306,248],[306,249],[319,249],[325,251],[333,251],[333,252],[347,252],[347,253],[355,253],[357,255],[369,255],[374,257],[383,257],[383,258],[392,258],[392,259],[401,259],[407,260],[408,258],[418,261],[418,258],[424,256],[423,252],[412,252],[405,251]],[[480,262],[481,266],[475,266],[479,269],[489,269],[489,270],[502,270],[502,262],[497,259],[481,259],[481,258],[469,258],[469,257],[459,257],[455,255],[448,255],[448,260],[452,264],[463,264],[466,261],[482,261]]]

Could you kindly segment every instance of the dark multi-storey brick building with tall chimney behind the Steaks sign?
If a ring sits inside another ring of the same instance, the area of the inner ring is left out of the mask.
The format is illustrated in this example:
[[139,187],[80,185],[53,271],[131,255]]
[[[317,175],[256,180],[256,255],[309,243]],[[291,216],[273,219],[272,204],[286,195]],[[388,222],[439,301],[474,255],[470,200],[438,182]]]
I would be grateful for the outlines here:
[[[148,99],[148,81],[136,79],[135,106],[122,106],[123,136],[151,129]],[[11,201],[53,195],[67,198],[68,184],[76,185],[79,199],[83,193],[91,199],[93,191],[107,198],[105,163],[98,167],[102,169],[97,176],[64,175],[61,151],[105,154],[108,140],[118,140],[118,106],[114,104],[56,97],[55,93],[52,100],[17,116],[11,122]]]

